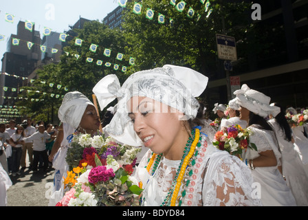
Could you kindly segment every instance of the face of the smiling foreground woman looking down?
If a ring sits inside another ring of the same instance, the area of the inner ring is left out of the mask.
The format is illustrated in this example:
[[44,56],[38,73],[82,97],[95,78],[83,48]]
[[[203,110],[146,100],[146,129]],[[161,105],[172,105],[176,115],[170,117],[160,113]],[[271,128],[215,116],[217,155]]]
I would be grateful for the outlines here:
[[162,102],[140,96],[134,96],[127,104],[134,130],[144,146],[154,153],[164,153],[168,159],[183,155],[182,147],[188,140],[184,121],[179,120],[183,113]]

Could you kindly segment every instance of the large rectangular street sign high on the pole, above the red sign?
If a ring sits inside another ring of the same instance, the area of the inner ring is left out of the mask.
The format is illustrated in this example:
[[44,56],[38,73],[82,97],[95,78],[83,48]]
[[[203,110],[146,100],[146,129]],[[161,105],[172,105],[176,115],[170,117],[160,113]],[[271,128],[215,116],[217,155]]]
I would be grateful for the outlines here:
[[216,42],[218,58],[225,61],[237,61],[234,37],[216,34]]

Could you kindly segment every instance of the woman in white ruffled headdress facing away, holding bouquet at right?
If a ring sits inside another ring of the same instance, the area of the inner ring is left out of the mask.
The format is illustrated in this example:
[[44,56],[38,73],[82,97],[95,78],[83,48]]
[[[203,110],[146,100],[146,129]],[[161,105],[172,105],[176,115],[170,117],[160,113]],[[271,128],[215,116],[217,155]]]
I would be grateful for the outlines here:
[[256,144],[257,151],[248,148],[243,159],[251,168],[254,181],[261,186],[263,205],[296,206],[294,196],[278,170],[281,153],[275,133],[265,120],[267,115],[276,116],[280,108],[270,106],[270,97],[245,84],[234,94],[241,106],[241,115],[248,120],[248,129],[252,131],[250,142]]

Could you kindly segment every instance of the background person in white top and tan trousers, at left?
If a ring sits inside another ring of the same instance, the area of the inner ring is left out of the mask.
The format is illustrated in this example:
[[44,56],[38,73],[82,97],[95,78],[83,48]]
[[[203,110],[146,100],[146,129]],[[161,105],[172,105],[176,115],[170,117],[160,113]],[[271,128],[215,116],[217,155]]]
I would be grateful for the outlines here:
[[[34,126],[32,126],[32,120],[28,118],[27,127],[25,128],[25,137],[30,137],[35,132],[36,132],[36,129]],[[33,164],[33,141],[32,140],[26,141],[25,145],[23,145],[23,153],[21,155],[21,168],[22,169],[26,167],[25,155],[27,151],[28,151],[30,167],[32,167],[32,164]]]

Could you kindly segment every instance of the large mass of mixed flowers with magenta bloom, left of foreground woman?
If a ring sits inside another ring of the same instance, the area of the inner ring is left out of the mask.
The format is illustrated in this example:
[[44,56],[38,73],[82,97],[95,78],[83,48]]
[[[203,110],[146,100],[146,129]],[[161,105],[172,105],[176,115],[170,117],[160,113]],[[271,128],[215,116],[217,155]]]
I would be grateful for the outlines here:
[[141,148],[118,144],[111,137],[74,135],[66,161],[67,192],[57,206],[137,206],[142,192],[134,177]]

